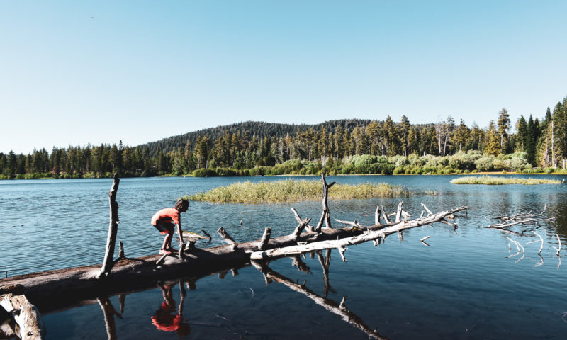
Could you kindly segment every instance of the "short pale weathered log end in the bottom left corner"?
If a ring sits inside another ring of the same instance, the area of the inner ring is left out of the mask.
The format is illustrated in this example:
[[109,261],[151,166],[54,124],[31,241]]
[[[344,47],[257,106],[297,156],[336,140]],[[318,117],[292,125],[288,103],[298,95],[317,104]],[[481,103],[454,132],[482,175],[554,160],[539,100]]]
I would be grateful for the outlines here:
[[45,326],[38,308],[23,295],[21,285],[0,288],[0,306],[12,315],[20,329],[21,339],[44,339]]

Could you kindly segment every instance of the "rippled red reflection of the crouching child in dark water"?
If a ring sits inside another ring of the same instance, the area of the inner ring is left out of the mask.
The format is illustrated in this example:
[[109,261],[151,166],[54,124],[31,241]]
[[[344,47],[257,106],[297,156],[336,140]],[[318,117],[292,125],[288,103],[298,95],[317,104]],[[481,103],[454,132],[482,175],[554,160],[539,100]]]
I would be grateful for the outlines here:
[[[160,286],[164,302],[159,306],[159,310],[152,316],[152,324],[160,331],[175,331],[179,335],[189,335],[191,327],[183,322],[183,297],[179,303],[179,310],[175,310],[175,300],[173,300],[172,288],[169,285]],[[173,315],[173,312],[177,312]]]

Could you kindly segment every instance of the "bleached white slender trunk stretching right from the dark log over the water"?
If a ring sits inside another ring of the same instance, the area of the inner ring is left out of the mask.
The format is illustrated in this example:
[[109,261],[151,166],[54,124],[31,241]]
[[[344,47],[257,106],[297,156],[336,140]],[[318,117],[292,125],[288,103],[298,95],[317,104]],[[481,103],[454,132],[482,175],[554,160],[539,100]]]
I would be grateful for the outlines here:
[[[254,251],[250,256],[250,259],[252,260],[270,259],[279,256],[288,256],[293,254],[301,254],[308,251],[317,251],[322,249],[333,249],[333,248],[339,249],[339,251],[341,252],[341,256],[343,256],[344,250],[342,249],[344,249],[344,247],[347,245],[359,244],[362,242],[371,241],[373,239],[377,239],[378,237],[384,239],[389,234],[401,232],[405,229],[411,229],[415,227],[420,227],[422,225],[429,225],[430,223],[434,223],[434,222],[440,222],[447,215],[451,215],[454,212],[464,210],[465,208],[466,207],[461,207],[461,208],[456,208],[454,210],[437,212],[437,214],[429,215],[419,220],[400,222],[397,225],[391,225],[389,227],[384,227],[383,229],[377,229],[378,228],[377,226],[368,227],[369,230],[367,232],[364,232],[363,234],[359,234],[354,237],[313,242],[310,244],[301,244],[297,246],[287,246],[284,248],[276,248],[267,251]],[[371,228],[375,228],[375,230],[371,230]]]

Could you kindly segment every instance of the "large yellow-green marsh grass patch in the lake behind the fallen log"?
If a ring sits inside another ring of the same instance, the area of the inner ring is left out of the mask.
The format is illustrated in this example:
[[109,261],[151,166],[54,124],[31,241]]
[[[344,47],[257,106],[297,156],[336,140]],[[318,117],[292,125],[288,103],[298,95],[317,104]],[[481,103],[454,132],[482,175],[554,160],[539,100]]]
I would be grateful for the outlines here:
[[[335,184],[329,189],[330,200],[348,200],[352,198],[388,198],[408,196],[402,186],[386,183]],[[187,196],[189,200],[213,203],[288,203],[303,200],[320,200],[322,184],[320,181],[250,181],[219,186],[205,193]]]

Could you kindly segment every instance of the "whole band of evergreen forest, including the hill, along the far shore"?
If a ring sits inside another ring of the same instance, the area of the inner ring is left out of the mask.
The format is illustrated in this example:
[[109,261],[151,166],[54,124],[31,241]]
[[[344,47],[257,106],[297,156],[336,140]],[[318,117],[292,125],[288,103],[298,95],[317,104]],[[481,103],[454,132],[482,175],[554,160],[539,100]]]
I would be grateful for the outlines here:
[[[245,122],[137,147],[123,146],[120,141],[118,145],[53,147],[51,152],[34,149],[27,155],[0,153],[0,176],[79,178],[110,176],[114,171],[122,176],[214,176],[300,173],[301,168],[304,173],[322,169],[351,173],[363,171],[354,166],[361,155],[371,157],[364,162],[389,162],[389,166],[384,165],[389,170],[384,172],[386,168],[382,166],[375,169],[378,173],[393,173],[400,166],[407,168],[416,157],[424,159],[415,163],[423,163],[423,168],[428,162],[423,158],[426,156],[447,158],[447,162],[436,161],[437,166],[447,163],[443,171],[486,170],[488,161],[475,163],[483,158],[479,155],[492,157],[491,164],[495,164],[494,160],[505,161],[504,155],[512,154],[516,158],[521,155],[524,169],[565,168],[567,97],[553,109],[547,108],[541,120],[522,115],[512,127],[505,108],[495,118],[488,128],[476,124],[469,127],[463,120],[457,124],[451,116],[431,124],[411,124],[405,115],[400,122],[393,121],[390,115],[386,120],[331,120],[318,125]],[[449,159],[457,159],[458,155],[462,158],[463,154],[473,155],[469,161],[474,165],[469,162],[463,166],[461,162],[460,167],[447,168]],[[400,163],[400,157],[406,161]],[[498,170],[496,164],[488,166],[488,170]],[[430,168],[434,172],[440,169]]]

